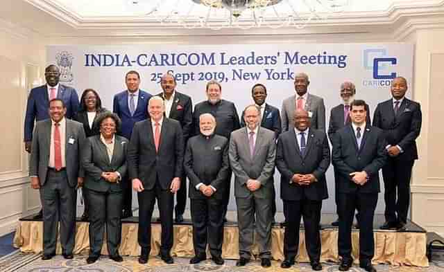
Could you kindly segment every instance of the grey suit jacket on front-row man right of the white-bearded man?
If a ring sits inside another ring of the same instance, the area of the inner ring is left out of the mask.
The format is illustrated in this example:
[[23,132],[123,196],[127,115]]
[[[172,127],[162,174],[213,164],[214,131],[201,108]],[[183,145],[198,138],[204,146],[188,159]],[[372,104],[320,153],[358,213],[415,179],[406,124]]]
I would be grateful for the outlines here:
[[[228,150],[231,169],[234,172],[234,196],[247,198],[271,198],[273,195],[273,172],[275,168],[275,133],[264,127],[257,131],[254,156],[250,156],[250,145],[246,127],[231,133]],[[261,187],[250,192],[248,179],[257,179]]]

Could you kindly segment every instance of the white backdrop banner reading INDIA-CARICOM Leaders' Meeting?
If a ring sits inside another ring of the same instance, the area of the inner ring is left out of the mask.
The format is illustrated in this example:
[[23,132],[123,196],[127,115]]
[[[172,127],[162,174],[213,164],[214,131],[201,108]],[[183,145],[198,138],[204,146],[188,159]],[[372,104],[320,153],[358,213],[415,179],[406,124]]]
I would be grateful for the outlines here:
[[[330,109],[341,103],[339,87],[345,80],[355,83],[357,98],[370,105],[371,117],[378,102],[391,97],[390,84],[396,76],[413,73],[412,44],[238,44],[238,45],[121,45],[121,46],[47,46],[48,64],[56,64],[62,84],[78,90],[99,92],[103,106],[112,109],[115,93],[126,89],[125,74],[141,75],[140,87],[148,93],[160,93],[160,77],[173,73],[177,90],[191,96],[193,104],[205,100],[205,84],[218,80],[222,96],[241,111],[253,102],[251,87],[267,87],[266,102],[281,108],[282,100],[295,91],[295,73],[309,75],[309,93],[324,98],[327,125]],[[279,175],[275,176],[278,210]],[[335,212],[333,169],[327,172],[330,198],[323,212]],[[382,180],[381,180],[382,183]],[[383,188],[383,186],[382,186]],[[230,209],[235,209],[234,199]],[[377,212],[384,210],[379,196]]]

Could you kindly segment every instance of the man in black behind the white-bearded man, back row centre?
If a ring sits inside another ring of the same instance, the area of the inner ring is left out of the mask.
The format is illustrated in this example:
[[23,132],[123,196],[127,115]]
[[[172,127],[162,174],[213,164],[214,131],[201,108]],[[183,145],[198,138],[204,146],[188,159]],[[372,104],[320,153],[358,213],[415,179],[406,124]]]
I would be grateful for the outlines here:
[[[201,114],[212,114],[216,118],[215,134],[224,136],[230,140],[230,134],[239,129],[239,115],[233,102],[221,99],[222,86],[216,80],[210,80],[206,87],[207,100],[196,104],[193,112],[194,135],[199,134],[199,116]],[[228,179],[231,183],[230,178]],[[223,200],[223,221],[226,221],[227,207],[230,201],[230,184]]]

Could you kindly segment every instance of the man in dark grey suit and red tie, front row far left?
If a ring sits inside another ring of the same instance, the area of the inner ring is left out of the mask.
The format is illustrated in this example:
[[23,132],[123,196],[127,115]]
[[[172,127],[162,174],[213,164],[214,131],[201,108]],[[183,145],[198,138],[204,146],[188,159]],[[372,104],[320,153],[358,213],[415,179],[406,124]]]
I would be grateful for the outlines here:
[[58,221],[60,244],[65,259],[72,259],[76,233],[76,185],[83,183],[80,149],[85,144],[83,125],[65,118],[65,102],[49,102],[49,116],[37,122],[31,145],[31,187],[40,189],[43,205],[43,256],[56,255]]

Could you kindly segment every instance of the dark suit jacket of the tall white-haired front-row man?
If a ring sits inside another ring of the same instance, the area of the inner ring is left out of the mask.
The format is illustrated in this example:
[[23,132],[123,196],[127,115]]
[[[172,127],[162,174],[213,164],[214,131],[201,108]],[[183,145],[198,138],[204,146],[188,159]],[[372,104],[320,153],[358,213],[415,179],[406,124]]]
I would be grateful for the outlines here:
[[159,179],[162,190],[168,190],[175,177],[182,176],[183,134],[177,120],[164,118],[160,129],[159,151],[155,151],[151,119],[137,122],[128,147],[130,181],[140,179],[145,190],[152,190]]

